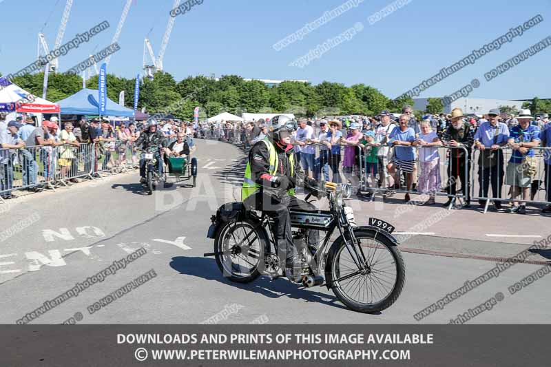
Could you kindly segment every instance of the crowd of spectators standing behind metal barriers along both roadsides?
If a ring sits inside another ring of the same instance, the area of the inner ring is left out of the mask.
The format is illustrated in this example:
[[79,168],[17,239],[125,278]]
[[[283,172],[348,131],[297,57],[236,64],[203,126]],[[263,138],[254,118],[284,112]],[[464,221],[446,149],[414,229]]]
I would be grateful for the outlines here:
[[[492,109],[483,117],[465,116],[456,108],[451,114],[426,114],[417,120],[413,108],[406,105],[402,114],[382,111],[377,116],[302,118],[298,126],[293,145],[306,174],[348,183],[353,195],[362,200],[379,192],[390,198],[402,190],[407,202],[411,194],[422,194],[418,205],[435,205],[435,196],[444,193],[448,196],[445,206],[455,206],[461,197],[462,207],[470,207],[475,189],[470,176],[476,169],[481,207],[490,200],[501,210],[503,201],[510,201],[506,211],[526,213],[526,202],[533,200],[540,184],[545,202],[551,202],[551,125],[547,115],[534,118],[525,109],[511,116]],[[4,199],[13,198],[14,181],[21,190],[40,191],[120,168],[122,162],[136,165],[136,152],[125,148],[138,140],[143,128],[139,122],[85,117],[60,123],[52,116],[39,127],[32,116],[0,120],[0,194]],[[262,118],[159,122],[170,147],[185,142],[191,151],[194,138],[225,140],[248,149],[267,136],[269,128],[269,119]],[[443,147],[444,155],[440,154]],[[507,200],[502,196],[505,187],[509,188]],[[541,210],[549,213],[551,205]]]

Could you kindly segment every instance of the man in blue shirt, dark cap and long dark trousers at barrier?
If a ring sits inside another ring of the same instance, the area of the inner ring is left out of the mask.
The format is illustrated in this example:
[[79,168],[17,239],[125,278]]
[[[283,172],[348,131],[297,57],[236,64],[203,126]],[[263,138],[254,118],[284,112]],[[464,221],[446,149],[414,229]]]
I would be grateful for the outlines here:
[[[488,121],[481,123],[475,134],[475,147],[479,149],[478,182],[479,198],[488,198],[490,182],[492,197],[501,198],[503,185],[503,151],[501,147],[507,144],[509,128],[499,122],[499,109],[490,109]],[[486,206],[486,199],[479,199],[481,206]],[[495,209],[501,209],[501,202],[494,201]]]

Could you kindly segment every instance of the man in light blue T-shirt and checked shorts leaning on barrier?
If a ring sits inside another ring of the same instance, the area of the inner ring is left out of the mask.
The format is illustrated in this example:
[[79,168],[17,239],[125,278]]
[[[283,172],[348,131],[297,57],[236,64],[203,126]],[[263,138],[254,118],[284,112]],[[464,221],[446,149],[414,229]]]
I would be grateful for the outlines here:
[[[394,156],[388,165],[388,173],[393,176],[394,182],[400,182],[396,174],[397,169],[406,174],[407,190],[411,190],[412,172],[415,166],[415,154],[413,152],[413,142],[415,141],[415,130],[408,127],[409,116],[402,114],[400,116],[399,129],[393,129],[388,139],[388,145],[394,148]],[[406,193],[405,199],[410,201],[409,194]]]

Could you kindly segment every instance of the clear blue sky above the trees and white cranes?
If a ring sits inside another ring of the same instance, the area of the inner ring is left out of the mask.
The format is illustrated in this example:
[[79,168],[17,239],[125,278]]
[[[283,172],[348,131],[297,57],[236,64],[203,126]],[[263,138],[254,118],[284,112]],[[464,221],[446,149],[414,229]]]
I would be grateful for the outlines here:
[[[485,72],[551,35],[551,0],[412,0],[373,25],[368,23],[368,17],[393,1],[364,0],[357,8],[304,36],[302,41],[280,51],[272,48],[275,42],[344,2],[204,0],[176,17],[165,55],[165,71],[178,81],[189,75],[214,73],[245,78],[308,79],[314,84],[324,80],[345,85],[365,83],[394,98],[509,28],[541,14],[542,23],[420,97],[450,94],[478,78],[481,87],[471,97],[551,98],[551,48],[495,80],[484,79]],[[63,41],[103,20],[109,21],[111,27],[61,57],[62,71],[85,59],[94,48],[101,50],[111,43],[124,3],[125,0],[74,1]],[[118,41],[121,50],[112,56],[108,72],[130,78],[142,71],[143,39],[149,34],[154,52],[158,52],[172,3],[172,0],[132,3]],[[0,0],[0,72],[16,72],[34,61],[37,33],[47,19],[43,33],[52,48],[64,6],[65,0]],[[302,69],[289,66],[291,61],[356,22],[362,22],[364,30],[350,41],[337,45]]]

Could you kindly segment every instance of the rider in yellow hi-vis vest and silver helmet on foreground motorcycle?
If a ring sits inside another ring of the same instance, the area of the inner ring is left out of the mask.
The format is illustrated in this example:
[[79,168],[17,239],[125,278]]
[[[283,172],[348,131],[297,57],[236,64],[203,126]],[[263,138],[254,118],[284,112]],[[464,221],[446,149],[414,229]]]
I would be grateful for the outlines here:
[[[297,123],[287,116],[278,115],[268,125],[269,135],[249,151],[242,202],[247,209],[262,211],[274,218],[273,234],[278,244],[278,257],[280,263],[285,264],[287,277],[294,279],[302,268],[295,254],[289,209],[317,210],[314,205],[296,198],[294,188],[303,187],[305,183],[310,187],[318,187],[318,184],[304,177],[291,145],[291,132]],[[309,244],[317,247],[318,231],[310,231],[308,237]]]

